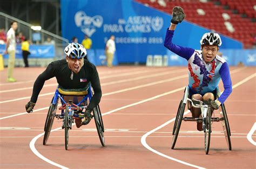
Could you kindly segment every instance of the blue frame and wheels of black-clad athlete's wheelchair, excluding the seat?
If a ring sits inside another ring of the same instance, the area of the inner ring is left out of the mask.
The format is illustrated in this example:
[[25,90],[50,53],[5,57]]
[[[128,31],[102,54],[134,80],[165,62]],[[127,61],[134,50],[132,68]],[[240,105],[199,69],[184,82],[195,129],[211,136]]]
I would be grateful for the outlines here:
[[[87,95],[83,96],[82,101],[80,101],[78,104],[72,103],[72,101],[69,101],[68,103],[64,100],[63,96],[69,96],[69,95],[62,95],[59,93],[58,88],[55,91],[54,96],[52,97],[52,101],[48,110],[48,115],[46,117],[45,125],[44,125],[44,139],[43,139],[43,145],[46,145],[52,124],[54,121],[54,118],[63,119],[63,125],[62,129],[65,129],[65,149],[68,150],[68,142],[69,142],[69,129],[72,129],[72,123],[73,123],[73,114],[75,111],[82,111],[83,108],[87,107],[86,101],[89,98],[89,101],[91,101],[91,98],[93,96],[93,89],[91,87],[91,84],[89,83],[89,87],[87,88]],[[56,114],[57,106],[58,106],[58,100],[60,99],[60,102],[62,103],[62,107],[59,108],[59,110],[62,110],[62,114]],[[84,103],[85,106],[80,107],[79,105]],[[100,139],[100,143],[102,146],[105,146],[105,140],[104,140],[104,125],[102,120],[102,114],[100,112],[99,105],[97,105],[92,110],[93,112],[93,118],[95,119],[95,124],[98,132],[98,136]],[[63,116],[64,114],[64,116]],[[82,112],[84,114],[84,112]],[[79,118],[79,117],[78,117]]]

